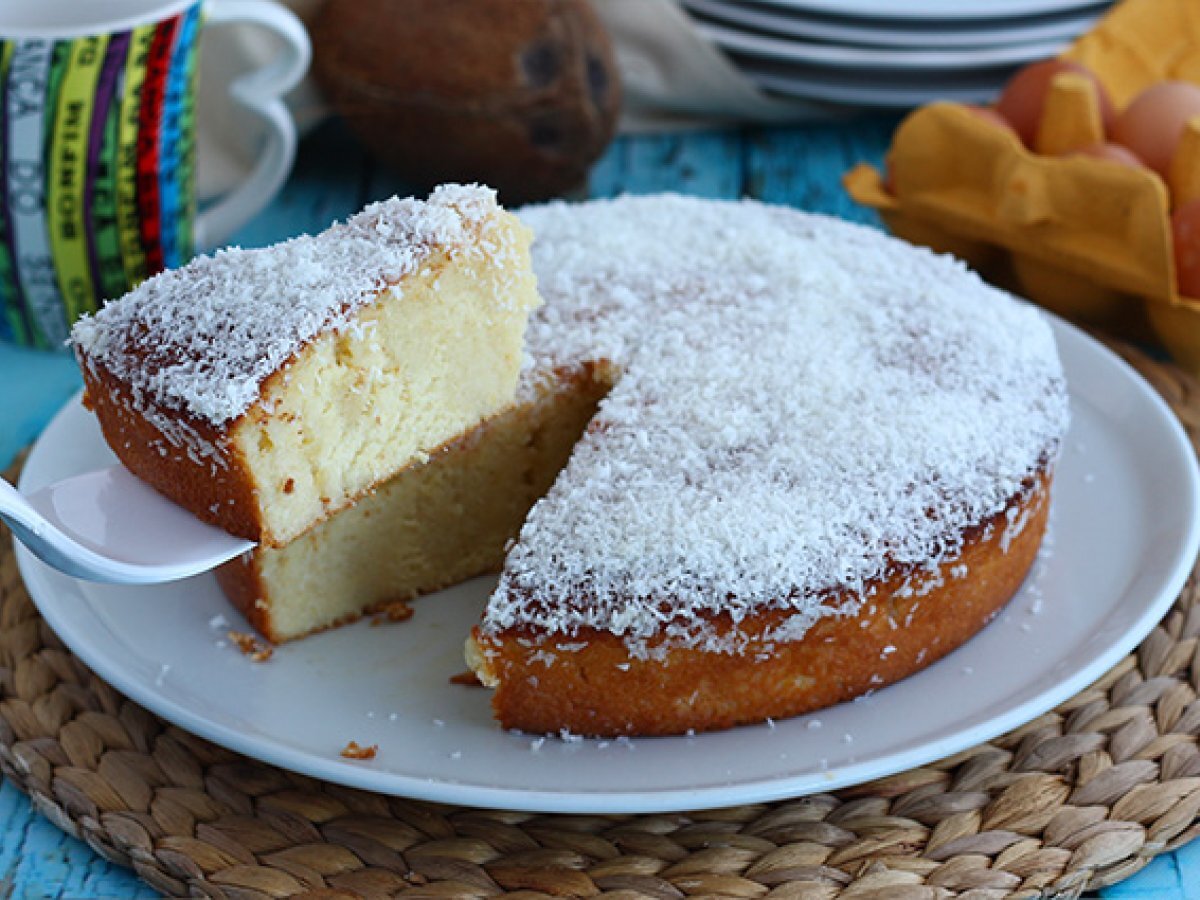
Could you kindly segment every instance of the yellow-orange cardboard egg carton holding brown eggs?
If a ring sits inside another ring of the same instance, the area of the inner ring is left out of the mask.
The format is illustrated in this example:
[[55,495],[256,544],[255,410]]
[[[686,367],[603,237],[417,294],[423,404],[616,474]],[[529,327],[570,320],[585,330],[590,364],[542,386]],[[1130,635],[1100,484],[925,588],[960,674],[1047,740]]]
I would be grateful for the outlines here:
[[[1062,55],[1092,70],[1117,109],[1156,82],[1200,84],[1200,2],[1124,0]],[[1040,149],[1099,139],[1094,95],[1079,90],[1081,80],[1054,80]],[[955,103],[908,115],[887,167],[884,178],[860,164],[845,185],[896,235],[954,253],[1076,322],[1139,340],[1157,335],[1200,373],[1200,298],[1176,290],[1171,202],[1153,172],[1034,154]],[[1181,142],[1171,181],[1177,203],[1200,196],[1200,122]]]

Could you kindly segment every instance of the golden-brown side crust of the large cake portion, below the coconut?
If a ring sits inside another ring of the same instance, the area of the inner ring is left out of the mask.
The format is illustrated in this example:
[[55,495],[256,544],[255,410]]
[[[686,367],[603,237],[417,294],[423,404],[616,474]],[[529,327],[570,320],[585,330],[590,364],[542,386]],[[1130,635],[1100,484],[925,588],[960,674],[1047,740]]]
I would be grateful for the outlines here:
[[[739,624],[749,636],[739,654],[672,647],[664,659],[637,659],[610,631],[547,643],[528,629],[476,628],[468,659],[485,684],[496,685],[500,725],[533,733],[677,734],[822,709],[924,668],[991,620],[1037,557],[1050,480],[1043,470],[1032,490],[972,529],[961,554],[936,574],[896,571],[876,583],[857,614],[827,616],[799,641],[763,641],[788,616],[770,610]],[[1021,523],[1019,532],[1013,522]],[[709,623],[721,634],[731,629],[724,616]]]

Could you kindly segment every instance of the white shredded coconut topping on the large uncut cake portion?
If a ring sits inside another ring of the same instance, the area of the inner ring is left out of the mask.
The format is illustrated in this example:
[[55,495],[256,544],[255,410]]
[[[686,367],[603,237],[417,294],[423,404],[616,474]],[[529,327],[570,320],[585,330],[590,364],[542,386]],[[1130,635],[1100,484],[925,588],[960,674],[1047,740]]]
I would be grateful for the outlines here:
[[[622,374],[510,550],[485,630],[736,653],[737,623],[781,607],[770,637],[798,640],[853,612],[834,592],[953,559],[1056,458],[1050,329],[950,258],[755,202],[521,217],[546,300],[522,390],[587,361]],[[734,629],[718,641],[703,613]]]

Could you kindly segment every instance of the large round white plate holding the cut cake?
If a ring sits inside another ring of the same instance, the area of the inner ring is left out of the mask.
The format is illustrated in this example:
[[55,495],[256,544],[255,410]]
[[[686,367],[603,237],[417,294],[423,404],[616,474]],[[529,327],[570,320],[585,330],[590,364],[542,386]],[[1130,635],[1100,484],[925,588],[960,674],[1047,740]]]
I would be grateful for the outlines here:
[[[1052,534],[1012,604],[912,678],[815,715],[698,737],[533,738],[496,727],[488,694],[448,678],[488,580],[280,647],[256,664],[224,641],[245,624],[211,576],[107,588],[19,553],[43,616],[91,668],[164,719],[329,781],[446,803],[541,811],[668,811],[772,800],[880,778],[1013,728],[1103,674],[1158,622],[1195,558],[1195,458],[1158,395],[1056,324],[1074,421]],[[77,402],[22,478],[36,488],[110,458]],[[224,622],[228,620],[229,625]],[[371,762],[340,757],[378,744]]]

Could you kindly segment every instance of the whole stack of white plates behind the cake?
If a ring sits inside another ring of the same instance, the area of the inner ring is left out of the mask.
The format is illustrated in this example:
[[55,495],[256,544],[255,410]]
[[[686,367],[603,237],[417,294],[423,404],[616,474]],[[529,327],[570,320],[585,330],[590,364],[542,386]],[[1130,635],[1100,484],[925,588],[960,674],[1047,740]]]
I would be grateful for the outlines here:
[[680,0],[768,91],[859,107],[986,102],[1110,0]]

